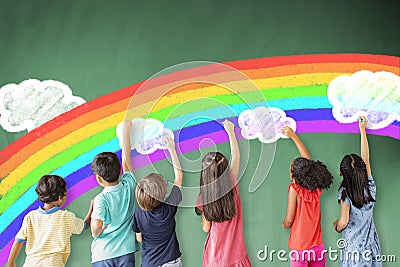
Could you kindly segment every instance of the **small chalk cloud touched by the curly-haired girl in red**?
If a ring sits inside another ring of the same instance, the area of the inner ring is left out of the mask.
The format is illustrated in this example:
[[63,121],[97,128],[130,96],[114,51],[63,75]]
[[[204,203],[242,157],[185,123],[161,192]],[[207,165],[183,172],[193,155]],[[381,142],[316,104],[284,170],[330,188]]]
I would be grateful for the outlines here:
[[287,138],[281,132],[284,126],[296,131],[296,121],[287,117],[285,111],[279,108],[247,109],[240,113],[238,123],[244,138],[258,138],[263,143],[273,143],[279,138]]

